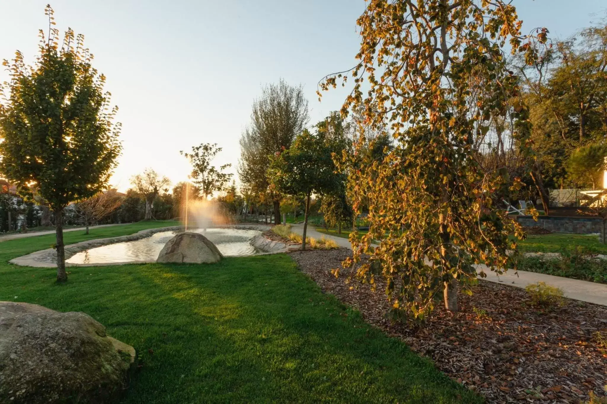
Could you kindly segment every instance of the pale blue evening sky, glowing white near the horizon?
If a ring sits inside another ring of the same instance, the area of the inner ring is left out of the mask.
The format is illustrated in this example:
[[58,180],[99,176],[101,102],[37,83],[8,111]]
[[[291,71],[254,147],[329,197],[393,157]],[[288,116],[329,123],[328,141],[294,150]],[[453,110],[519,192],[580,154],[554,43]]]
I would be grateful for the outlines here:
[[[15,50],[32,62],[38,30],[48,27],[49,0],[0,0],[0,59]],[[605,0],[512,0],[523,31],[547,27],[563,39],[605,15]],[[574,6],[572,4],[575,4]],[[364,0],[55,0],[56,27],[83,33],[107,76],[106,90],[120,110],[123,153],[111,179],[126,190],[147,167],[186,180],[180,155],[217,143],[215,165],[231,163],[236,177],[239,139],[251,105],[266,83],[301,84],[310,124],[339,110],[347,89],[316,95],[325,75],[354,66],[356,18]],[[7,79],[0,72],[0,81]]]

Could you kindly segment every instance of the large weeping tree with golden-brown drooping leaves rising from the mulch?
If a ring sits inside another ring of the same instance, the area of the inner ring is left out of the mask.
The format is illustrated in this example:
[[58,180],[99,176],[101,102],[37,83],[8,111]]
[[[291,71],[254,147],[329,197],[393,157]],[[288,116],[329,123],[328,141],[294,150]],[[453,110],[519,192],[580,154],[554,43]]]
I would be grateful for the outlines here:
[[342,113],[362,109],[366,122],[388,122],[396,147],[371,160],[358,153],[357,141],[342,160],[354,211],[367,200],[370,223],[368,234],[351,240],[353,257],[344,266],[368,252],[352,276],[371,285],[383,277],[395,316],[426,315],[441,291],[456,311],[458,282],[476,279],[474,264],[506,269],[508,234],[522,236],[498,201],[523,184],[509,180],[505,168],[483,172],[473,144],[491,117],[507,110],[514,141],[525,144],[528,112],[502,47],[509,41],[513,52],[535,55],[523,43],[514,6],[502,0],[371,0],[358,25],[359,64],[328,76],[320,89],[353,77]]

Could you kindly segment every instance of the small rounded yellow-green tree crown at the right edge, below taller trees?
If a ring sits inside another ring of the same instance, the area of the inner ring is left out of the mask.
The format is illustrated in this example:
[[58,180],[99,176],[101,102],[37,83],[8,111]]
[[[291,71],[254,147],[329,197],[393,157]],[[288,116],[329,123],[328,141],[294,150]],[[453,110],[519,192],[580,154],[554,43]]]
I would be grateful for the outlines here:
[[578,147],[571,153],[567,161],[569,177],[575,184],[592,185],[592,189],[596,189],[605,170],[605,157],[607,157],[605,144]]

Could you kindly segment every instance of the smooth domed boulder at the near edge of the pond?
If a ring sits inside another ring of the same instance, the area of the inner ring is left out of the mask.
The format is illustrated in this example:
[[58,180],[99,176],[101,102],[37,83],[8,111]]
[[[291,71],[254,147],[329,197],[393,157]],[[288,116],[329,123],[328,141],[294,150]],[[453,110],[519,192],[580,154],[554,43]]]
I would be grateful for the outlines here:
[[209,264],[219,262],[223,255],[215,244],[202,234],[185,232],[164,244],[156,262]]

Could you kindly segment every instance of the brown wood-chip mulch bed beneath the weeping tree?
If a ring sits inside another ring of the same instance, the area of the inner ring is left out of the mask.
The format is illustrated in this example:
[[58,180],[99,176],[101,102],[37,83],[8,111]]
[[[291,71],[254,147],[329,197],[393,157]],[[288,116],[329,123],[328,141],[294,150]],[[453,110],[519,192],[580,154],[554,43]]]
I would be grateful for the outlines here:
[[487,402],[585,402],[591,391],[606,396],[607,352],[593,337],[597,331],[607,336],[606,307],[564,299],[552,311],[541,310],[523,289],[481,280],[472,296],[458,295],[459,312],[439,303],[423,326],[392,324],[385,318],[390,304],[382,284],[372,292],[330,273],[349,254],[336,249],[290,255],[324,292],[404,340]]

